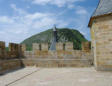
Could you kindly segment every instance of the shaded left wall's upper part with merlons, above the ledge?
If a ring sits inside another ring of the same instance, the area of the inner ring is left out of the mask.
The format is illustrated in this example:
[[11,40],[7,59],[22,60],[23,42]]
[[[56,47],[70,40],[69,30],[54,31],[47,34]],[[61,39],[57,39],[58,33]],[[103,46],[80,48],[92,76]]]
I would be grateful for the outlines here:
[[22,55],[22,46],[15,43],[9,43],[8,51],[5,42],[0,41],[0,59],[16,59]]

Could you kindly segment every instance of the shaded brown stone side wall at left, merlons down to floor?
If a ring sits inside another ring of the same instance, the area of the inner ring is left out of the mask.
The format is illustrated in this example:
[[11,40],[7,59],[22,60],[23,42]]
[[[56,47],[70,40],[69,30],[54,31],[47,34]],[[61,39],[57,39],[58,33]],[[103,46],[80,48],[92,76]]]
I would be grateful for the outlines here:
[[8,50],[6,50],[5,42],[0,41],[0,74],[21,68],[21,58],[23,58],[21,45],[9,43]]

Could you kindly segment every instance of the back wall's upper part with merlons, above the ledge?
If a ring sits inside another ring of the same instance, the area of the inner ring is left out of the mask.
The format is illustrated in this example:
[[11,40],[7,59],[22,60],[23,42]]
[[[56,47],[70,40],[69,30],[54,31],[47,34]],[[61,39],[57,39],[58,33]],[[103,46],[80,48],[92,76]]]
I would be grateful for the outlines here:
[[34,43],[33,50],[26,51],[25,49],[24,56],[28,59],[93,59],[90,42],[82,43],[82,50],[74,50],[71,42],[56,43],[56,51],[48,50],[47,43]]

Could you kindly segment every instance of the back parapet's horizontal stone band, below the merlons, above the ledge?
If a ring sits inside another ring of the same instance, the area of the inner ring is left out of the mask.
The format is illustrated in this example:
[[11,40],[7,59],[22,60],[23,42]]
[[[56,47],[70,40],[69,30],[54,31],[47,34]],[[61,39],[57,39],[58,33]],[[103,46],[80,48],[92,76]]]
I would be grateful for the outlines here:
[[26,58],[36,59],[93,59],[91,52],[83,52],[81,50],[72,51],[25,51]]

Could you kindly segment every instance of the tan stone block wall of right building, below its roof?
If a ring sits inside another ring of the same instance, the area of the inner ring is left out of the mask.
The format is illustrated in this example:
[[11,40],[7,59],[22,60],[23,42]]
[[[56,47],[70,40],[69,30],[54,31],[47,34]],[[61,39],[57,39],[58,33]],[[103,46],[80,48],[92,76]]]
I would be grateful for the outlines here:
[[97,70],[112,70],[112,16],[99,17],[91,27],[92,50]]

